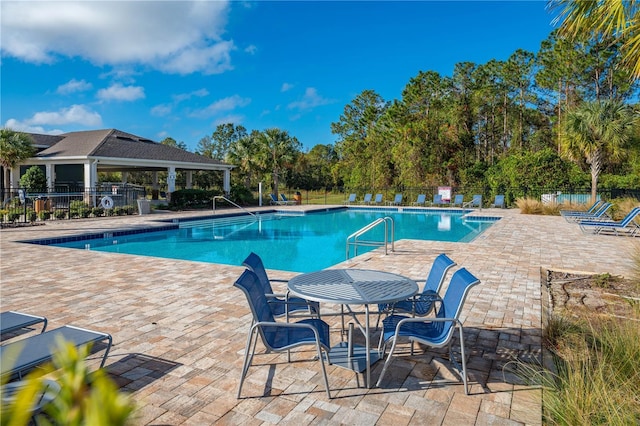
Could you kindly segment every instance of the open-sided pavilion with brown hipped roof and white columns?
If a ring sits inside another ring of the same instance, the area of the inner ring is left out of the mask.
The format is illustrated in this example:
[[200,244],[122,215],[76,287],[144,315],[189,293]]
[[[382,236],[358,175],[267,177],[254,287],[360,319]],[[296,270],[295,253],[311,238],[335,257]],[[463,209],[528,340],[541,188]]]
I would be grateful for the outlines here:
[[[61,135],[31,134],[38,153],[20,166],[44,166],[49,190],[56,182],[82,181],[85,189],[95,188],[98,172],[122,172],[123,183],[131,171],[153,173],[153,188],[158,189],[159,171],[167,172],[167,192],[175,191],[176,172],[184,171],[186,187],[192,187],[193,171],[224,173],[223,190],[231,190],[230,164],[184,151],[116,129],[70,132]],[[18,187],[20,167],[11,170],[11,186]]]

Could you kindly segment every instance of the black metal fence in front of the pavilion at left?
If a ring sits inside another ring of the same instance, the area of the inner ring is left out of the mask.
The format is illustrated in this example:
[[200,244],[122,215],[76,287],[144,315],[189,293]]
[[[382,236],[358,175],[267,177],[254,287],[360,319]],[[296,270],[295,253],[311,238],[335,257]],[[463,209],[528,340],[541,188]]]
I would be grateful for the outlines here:
[[2,226],[138,213],[145,189],[137,185],[108,184],[96,188],[59,188],[64,191],[29,192],[11,188],[2,193]]

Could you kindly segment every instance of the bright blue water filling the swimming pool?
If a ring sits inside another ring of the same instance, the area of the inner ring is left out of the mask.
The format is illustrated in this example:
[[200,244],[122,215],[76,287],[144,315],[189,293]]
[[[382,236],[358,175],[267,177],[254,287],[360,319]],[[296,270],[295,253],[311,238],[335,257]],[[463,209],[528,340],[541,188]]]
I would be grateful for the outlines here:
[[[343,262],[347,237],[377,218],[393,218],[396,241],[469,242],[495,220],[465,219],[462,210],[397,210],[349,208],[298,215],[263,214],[259,220],[251,216],[189,220],[180,222],[176,229],[129,235],[114,232],[53,245],[228,265],[240,265],[253,251],[269,269],[311,272]],[[362,239],[383,241],[384,226]],[[358,254],[374,248],[361,246]]]

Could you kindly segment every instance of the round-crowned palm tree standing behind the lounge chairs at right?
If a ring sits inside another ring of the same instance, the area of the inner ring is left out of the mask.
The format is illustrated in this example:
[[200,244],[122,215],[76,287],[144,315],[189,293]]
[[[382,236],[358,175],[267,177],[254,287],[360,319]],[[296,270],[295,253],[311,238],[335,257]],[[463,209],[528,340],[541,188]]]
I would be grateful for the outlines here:
[[591,169],[591,198],[596,199],[598,177],[606,159],[624,154],[634,128],[633,111],[616,101],[584,103],[570,112],[561,136],[563,153],[572,159],[584,158]]

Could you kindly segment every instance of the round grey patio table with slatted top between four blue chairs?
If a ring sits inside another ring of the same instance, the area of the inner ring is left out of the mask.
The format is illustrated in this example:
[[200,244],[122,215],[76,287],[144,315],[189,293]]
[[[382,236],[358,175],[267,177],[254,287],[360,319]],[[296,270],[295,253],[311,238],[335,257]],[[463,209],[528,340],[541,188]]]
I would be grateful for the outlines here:
[[[371,350],[369,305],[405,300],[418,292],[418,284],[411,278],[384,271],[325,269],[295,276],[287,286],[291,293],[307,300],[346,306],[364,334],[365,345],[353,345],[349,336],[347,343],[340,342],[331,348],[331,363],[357,373],[366,370],[366,386],[371,387],[371,365],[381,355],[378,350]],[[353,305],[364,305],[364,326],[351,308]]]

